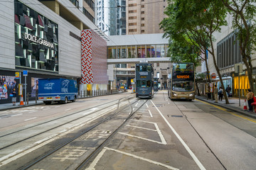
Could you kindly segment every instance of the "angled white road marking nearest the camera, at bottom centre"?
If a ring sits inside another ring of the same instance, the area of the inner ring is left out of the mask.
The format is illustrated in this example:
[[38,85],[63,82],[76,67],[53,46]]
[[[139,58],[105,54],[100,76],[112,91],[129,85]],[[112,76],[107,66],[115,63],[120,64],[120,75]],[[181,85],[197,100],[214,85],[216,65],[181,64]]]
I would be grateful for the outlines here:
[[172,166],[169,166],[169,165],[166,165],[166,164],[162,164],[160,162],[155,162],[155,161],[152,161],[150,159],[146,159],[144,157],[138,157],[137,155],[135,154],[129,154],[127,152],[122,152],[122,151],[119,151],[117,149],[112,149],[112,148],[109,148],[109,147],[105,147],[104,149],[102,149],[102,152],[100,152],[100,154],[98,154],[98,156],[95,158],[95,160],[92,162],[92,164],[90,165],[90,167],[86,170],[95,170],[95,165],[97,164],[97,162],[99,162],[100,158],[102,157],[102,155],[106,152],[106,150],[110,150],[110,151],[113,151],[113,152],[117,152],[117,153],[120,153],[120,154],[124,154],[124,155],[127,155],[129,157],[134,157],[135,159],[140,159],[142,161],[145,161],[145,162],[149,162],[150,164],[156,164],[156,165],[159,165],[159,166],[164,166],[166,169],[171,169],[171,170],[179,170],[177,168],[174,168]]

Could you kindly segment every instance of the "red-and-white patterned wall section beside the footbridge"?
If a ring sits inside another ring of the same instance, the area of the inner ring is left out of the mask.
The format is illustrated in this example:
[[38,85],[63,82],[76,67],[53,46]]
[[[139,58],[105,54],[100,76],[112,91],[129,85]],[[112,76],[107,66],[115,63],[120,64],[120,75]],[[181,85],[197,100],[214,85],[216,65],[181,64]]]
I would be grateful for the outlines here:
[[107,42],[93,30],[82,30],[82,79],[80,84],[108,84]]

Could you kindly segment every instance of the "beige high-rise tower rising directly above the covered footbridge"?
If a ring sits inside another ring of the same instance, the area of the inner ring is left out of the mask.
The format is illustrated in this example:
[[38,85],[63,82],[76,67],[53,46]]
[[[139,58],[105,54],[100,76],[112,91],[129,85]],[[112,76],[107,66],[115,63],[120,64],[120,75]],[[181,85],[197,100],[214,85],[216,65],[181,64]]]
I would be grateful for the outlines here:
[[164,19],[166,0],[127,1],[127,34],[164,33],[159,23]]

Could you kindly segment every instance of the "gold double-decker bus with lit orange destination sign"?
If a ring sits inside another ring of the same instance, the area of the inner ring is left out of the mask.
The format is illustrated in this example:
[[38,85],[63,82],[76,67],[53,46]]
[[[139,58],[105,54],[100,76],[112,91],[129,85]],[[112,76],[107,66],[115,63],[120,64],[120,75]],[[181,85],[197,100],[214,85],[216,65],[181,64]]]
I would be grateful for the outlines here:
[[171,99],[195,99],[195,68],[193,63],[173,63],[168,96]]

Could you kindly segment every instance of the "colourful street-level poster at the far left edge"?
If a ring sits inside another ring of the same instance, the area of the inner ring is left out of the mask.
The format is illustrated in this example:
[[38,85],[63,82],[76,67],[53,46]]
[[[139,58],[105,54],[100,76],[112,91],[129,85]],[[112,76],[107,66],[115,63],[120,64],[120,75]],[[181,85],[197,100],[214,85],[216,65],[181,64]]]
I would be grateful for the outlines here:
[[10,94],[17,86],[15,77],[0,75],[0,100],[11,98]]

